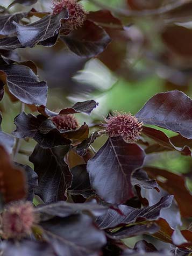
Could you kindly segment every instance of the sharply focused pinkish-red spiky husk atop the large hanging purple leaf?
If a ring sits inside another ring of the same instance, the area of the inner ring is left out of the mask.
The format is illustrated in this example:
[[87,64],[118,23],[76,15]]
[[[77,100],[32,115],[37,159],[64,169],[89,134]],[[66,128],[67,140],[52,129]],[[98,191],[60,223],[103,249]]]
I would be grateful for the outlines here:
[[105,131],[109,137],[122,136],[127,143],[133,143],[139,139],[143,123],[132,116],[131,113],[118,113],[115,116],[105,118]]

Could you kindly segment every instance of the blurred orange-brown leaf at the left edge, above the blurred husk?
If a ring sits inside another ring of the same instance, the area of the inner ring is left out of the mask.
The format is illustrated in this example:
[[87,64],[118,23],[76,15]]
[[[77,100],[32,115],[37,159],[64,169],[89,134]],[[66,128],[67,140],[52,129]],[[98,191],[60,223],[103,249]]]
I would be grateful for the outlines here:
[[0,146],[0,192],[5,203],[22,200],[26,196],[25,174],[13,165],[3,146]]

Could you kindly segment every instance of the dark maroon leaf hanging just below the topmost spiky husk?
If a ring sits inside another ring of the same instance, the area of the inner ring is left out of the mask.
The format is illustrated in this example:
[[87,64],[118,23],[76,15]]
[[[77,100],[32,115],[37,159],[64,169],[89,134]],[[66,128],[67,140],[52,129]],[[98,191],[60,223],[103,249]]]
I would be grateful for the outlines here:
[[78,30],[70,32],[67,36],[60,37],[70,51],[75,54],[91,58],[102,53],[111,42],[109,35],[95,23],[86,20]]

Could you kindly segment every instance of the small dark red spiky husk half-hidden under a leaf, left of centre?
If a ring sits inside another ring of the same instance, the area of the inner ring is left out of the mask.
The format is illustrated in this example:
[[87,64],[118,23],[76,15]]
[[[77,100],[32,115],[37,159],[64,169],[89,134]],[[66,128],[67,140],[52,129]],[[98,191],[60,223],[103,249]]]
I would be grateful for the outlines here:
[[51,119],[59,130],[76,130],[79,127],[74,115],[58,115]]

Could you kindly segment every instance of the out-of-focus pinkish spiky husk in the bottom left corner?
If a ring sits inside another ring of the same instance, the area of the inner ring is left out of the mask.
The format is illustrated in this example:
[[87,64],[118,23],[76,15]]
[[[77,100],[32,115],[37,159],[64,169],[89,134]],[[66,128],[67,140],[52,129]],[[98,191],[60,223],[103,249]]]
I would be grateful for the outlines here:
[[31,228],[35,223],[37,223],[37,216],[34,214],[31,202],[10,203],[2,214],[3,237],[6,239],[26,237],[31,233]]

